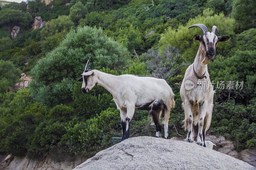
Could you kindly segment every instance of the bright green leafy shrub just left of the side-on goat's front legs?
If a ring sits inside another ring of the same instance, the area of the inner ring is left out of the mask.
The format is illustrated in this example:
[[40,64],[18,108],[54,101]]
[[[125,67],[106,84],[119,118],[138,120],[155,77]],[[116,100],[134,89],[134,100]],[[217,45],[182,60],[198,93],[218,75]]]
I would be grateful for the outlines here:
[[69,154],[91,156],[112,145],[112,137],[121,133],[120,112],[109,108],[86,122],[71,122],[61,140]]

